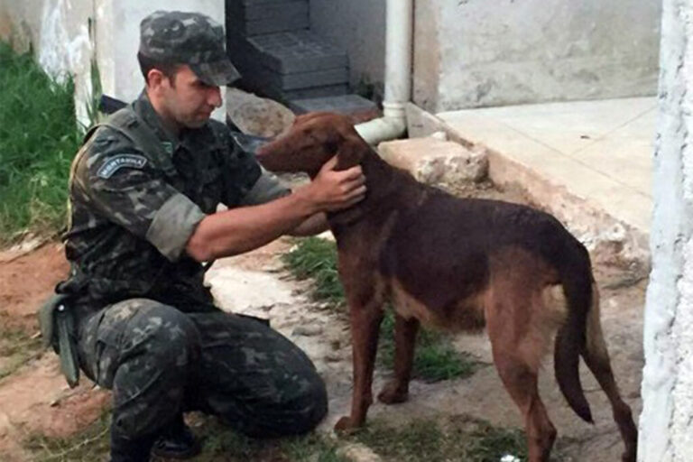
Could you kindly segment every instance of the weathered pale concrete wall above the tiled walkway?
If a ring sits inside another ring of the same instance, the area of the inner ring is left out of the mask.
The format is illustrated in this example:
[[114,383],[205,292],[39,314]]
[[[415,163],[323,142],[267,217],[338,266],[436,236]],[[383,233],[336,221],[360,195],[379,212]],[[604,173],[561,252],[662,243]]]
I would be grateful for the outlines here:
[[430,112],[653,95],[661,0],[416,2],[413,100]]

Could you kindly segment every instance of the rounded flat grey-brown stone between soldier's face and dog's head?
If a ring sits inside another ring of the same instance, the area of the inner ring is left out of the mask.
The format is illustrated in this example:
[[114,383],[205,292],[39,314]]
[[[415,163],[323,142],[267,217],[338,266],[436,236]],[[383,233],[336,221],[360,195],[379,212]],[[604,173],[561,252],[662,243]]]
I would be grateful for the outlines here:
[[295,115],[282,104],[238,88],[226,90],[226,115],[243,133],[273,137],[293,124]]

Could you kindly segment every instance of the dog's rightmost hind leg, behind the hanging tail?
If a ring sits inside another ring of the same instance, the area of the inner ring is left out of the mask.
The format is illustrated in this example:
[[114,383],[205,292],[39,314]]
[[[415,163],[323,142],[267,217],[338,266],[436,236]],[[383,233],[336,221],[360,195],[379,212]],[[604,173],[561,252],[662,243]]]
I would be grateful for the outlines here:
[[635,462],[637,458],[638,430],[633,422],[631,408],[621,399],[618,387],[614,380],[614,373],[609,362],[609,353],[602,334],[602,326],[599,320],[599,292],[596,284],[592,285],[592,307],[587,315],[587,347],[582,354],[583,359],[596,381],[606,393],[614,412],[614,420],[624,439],[625,452],[622,456],[624,462]]

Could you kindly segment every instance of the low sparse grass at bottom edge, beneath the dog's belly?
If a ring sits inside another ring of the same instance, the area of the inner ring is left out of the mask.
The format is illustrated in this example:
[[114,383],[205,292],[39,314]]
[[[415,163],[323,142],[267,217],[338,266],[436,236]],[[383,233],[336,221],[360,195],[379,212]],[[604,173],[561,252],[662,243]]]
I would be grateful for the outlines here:
[[521,430],[495,428],[465,416],[411,420],[396,427],[376,419],[350,438],[373,448],[385,460],[499,462],[506,455],[527,460]]

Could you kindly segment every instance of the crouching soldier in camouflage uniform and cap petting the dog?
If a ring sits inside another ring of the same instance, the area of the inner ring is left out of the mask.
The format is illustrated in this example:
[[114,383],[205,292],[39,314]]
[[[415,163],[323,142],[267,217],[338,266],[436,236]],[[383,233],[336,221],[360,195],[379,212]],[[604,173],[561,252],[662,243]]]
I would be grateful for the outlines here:
[[207,16],[156,12],[140,39],[142,95],[91,130],[72,164],[71,272],[57,289],[80,368],[113,390],[111,459],[194,456],[184,411],[254,437],[312,430],[327,412],[314,365],[263,322],[218,310],[201,263],[327,229],[324,212],[364,198],[364,176],[330,162],[291,193],[210,120],[219,86],[239,75]]

